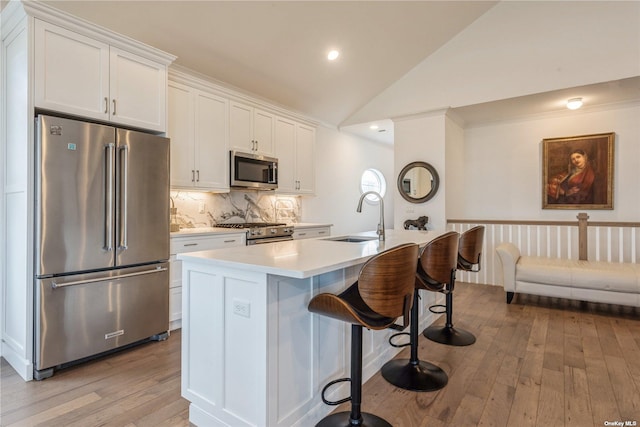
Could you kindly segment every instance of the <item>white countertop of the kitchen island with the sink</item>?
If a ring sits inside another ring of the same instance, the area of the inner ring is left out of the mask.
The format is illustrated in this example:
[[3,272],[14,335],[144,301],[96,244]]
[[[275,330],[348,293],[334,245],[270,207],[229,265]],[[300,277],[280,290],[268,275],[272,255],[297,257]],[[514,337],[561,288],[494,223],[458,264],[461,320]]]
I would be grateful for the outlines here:
[[[371,256],[404,243],[424,246],[444,233],[436,230],[386,230],[385,242],[377,239],[361,243],[327,240],[338,237],[331,236],[190,252],[179,254],[178,259],[303,279],[362,264]],[[377,237],[375,231],[349,236]]]

